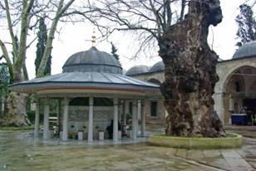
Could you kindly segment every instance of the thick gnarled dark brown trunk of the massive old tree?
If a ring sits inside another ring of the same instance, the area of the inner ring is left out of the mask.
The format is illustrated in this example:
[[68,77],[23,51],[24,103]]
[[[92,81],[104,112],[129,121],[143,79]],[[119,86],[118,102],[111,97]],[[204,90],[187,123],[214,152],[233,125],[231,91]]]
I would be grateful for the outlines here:
[[166,135],[223,137],[225,131],[214,111],[214,85],[218,57],[210,50],[209,25],[221,22],[219,0],[191,1],[185,20],[171,26],[160,38],[165,63]]

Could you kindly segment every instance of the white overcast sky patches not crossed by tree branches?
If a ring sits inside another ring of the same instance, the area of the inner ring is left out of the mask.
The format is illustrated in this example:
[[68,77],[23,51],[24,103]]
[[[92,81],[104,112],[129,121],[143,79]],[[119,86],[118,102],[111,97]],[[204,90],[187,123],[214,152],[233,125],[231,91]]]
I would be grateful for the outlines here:
[[[237,42],[235,40],[237,26],[234,22],[234,18],[238,15],[239,5],[244,2],[244,0],[220,0],[220,2],[224,19],[217,27],[210,29],[213,30],[213,33],[209,34],[209,44],[211,46],[214,40],[214,51],[217,52],[220,58],[227,60],[233,56],[237,48],[234,46]],[[62,72],[62,66],[69,56],[78,51],[86,51],[91,48],[91,42],[88,40],[91,39],[93,27],[90,23],[69,24],[65,27],[60,25],[60,27],[62,27],[61,34],[56,34],[56,38],[53,42],[52,75]],[[100,35],[99,33],[97,34]],[[0,36],[2,36],[2,33],[0,33]],[[150,55],[148,55],[147,58],[140,57],[135,60],[130,60],[129,58],[135,53],[134,46],[130,41],[130,34],[117,33],[116,36],[112,36],[111,41],[115,43],[118,49],[121,65],[125,70],[135,65],[152,66],[155,62],[160,61],[160,57],[152,57]],[[111,52],[111,45],[108,42],[98,42],[96,48],[100,51]],[[35,77],[35,51],[35,47],[27,51],[26,63],[30,79]]]

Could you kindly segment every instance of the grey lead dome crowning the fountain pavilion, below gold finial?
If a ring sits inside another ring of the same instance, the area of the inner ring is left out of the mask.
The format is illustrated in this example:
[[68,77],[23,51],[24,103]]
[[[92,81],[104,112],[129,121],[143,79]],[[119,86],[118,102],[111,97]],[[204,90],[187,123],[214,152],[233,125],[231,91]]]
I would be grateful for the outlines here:
[[107,72],[122,74],[120,62],[105,51],[98,51],[92,46],[88,51],[80,51],[68,58],[62,67],[63,72]]

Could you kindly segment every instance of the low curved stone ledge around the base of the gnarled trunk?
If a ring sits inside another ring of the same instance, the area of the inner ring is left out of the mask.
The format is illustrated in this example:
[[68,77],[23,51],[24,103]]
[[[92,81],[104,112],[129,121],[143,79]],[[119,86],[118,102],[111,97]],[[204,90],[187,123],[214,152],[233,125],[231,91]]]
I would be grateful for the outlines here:
[[225,138],[196,138],[151,134],[149,144],[177,149],[235,149],[242,146],[243,136],[227,133],[227,137]]

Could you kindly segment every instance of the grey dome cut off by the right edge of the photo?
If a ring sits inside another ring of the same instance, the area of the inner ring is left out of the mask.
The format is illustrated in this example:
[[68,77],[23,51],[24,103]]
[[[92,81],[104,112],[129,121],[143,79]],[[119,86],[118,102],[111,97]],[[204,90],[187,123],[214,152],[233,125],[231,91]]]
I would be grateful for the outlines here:
[[256,56],[256,41],[245,43],[235,51],[232,59],[238,59],[242,57]]

